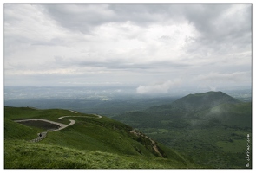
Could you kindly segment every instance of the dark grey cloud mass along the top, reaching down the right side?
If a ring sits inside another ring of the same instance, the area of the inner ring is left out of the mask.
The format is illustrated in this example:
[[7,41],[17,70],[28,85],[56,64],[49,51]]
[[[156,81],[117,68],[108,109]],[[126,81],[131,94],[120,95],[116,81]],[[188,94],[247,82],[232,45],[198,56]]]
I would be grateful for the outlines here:
[[[210,49],[241,48],[252,39],[252,5],[242,4],[52,4],[44,5],[63,27],[89,33],[108,22],[188,22],[200,36],[194,41]],[[137,35],[138,36],[138,35]],[[166,37],[167,38],[167,37]]]

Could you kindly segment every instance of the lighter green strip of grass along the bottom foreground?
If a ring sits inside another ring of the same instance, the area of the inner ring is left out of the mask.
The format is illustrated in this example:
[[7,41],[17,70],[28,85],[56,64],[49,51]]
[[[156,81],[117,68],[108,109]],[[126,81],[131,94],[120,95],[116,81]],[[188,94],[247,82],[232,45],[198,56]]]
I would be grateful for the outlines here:
[[5,169],[171,169],[187,165],[159,157],[135,157],[103,151],[75,150],[23,140],[4,142]]

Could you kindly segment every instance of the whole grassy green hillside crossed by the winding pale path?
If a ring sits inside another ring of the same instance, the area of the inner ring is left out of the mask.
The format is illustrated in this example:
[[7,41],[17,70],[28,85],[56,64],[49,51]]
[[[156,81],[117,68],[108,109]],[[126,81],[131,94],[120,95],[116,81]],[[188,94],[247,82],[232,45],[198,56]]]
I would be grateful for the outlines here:
[[[59,119],[63,117],[62,119]],[[17,119],[47,119],[74,125],[47,131],[42,121],[22,124]],[[61,109],[4,107],[4,168],[194,168],[177,151],[113,119]]]

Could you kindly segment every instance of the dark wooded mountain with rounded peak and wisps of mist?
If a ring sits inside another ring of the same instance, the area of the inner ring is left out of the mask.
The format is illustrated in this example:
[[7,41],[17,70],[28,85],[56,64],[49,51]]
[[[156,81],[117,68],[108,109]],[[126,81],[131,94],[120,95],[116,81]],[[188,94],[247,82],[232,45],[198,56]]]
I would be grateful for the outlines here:
[[[183,127],[192,124],[194,125],[194,123],[191,123],[191,119],[195,119],[196,121],[198,121],[199,119],[203,119],[204,121],[206,119],[210,120],[209,116],[204,117],[203,115],[209,115],[209,112],[211,112],[211,110],[217,109],[214,107],[217,106],[220,108],[223,107],[223,104],[225,104],[226,106],[228,105],[229,107],[229,109],[223,110],[224,112],[226,112],[226,115],[228,115],[228,119],[231,119],[230,112],[233,112],[232,110],[236,109],[235,107],[240,107],[241,109],[243,109],[245,107],[248,108],[251,105],[251,103],[249,102],[243,103],[240,100],[234,99],[233,97],[222,92],[195,93],[189,94],[185,97],[182,97],[181,99],[177,99],[170,104],[151,106],[146,110],[137,112],[123,113],[119,116],[114,117],[114,119],[117,119],[128,125],[132,125],[136,128],[159,127],[162,125],[178,125]],[[215,112],[214,115],[220,113],[223,112]],[[250,116],[250,112],[247,112],[247,115]],[[248,119],[246,120],[246,122],[250,122],[249,116],[246,116],[246,118],[244,117],[243,119]],[[213,113],[210,117],[213,118]],[[215,116],[214,119],[215,118],[222,119],[224,117],[220,118],[220,116]],[[168,123],[163,123],[163,121],[168,121]],[[233,119],[233,122],[234,121],[236,120]],[[239,123],[239,121],[236,122]],[[226,122],[226,125],[227,124],[228,122]],[[248,126],[248,124],[246,126]]]

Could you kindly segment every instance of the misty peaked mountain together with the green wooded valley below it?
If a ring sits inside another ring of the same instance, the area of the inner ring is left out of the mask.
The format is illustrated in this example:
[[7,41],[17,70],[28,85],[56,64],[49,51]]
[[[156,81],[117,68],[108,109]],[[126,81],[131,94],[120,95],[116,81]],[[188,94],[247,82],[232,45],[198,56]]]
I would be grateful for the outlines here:
[[123,113],[114,119],[204,167],[245,168],[246,137],[252,134],[252,103],[226,93],[189,94],[171,104]]

